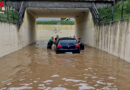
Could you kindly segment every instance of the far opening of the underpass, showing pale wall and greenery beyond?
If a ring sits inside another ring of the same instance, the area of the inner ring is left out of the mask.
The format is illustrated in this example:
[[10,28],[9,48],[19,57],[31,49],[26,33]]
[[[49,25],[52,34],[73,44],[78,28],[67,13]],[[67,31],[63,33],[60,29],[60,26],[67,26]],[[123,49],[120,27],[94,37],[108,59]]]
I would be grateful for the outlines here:
[[69,17],[38,17],[35,23],[36,42],[48,41],[50,37],[74,37],[75,19]]

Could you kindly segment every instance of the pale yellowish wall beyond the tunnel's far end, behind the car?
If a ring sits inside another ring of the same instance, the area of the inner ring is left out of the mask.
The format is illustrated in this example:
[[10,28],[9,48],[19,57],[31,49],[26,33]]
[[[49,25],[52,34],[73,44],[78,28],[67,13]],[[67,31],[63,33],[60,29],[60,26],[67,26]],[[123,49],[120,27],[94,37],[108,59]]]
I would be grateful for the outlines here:
[[36,41],[49,40],[50,37],[73,37],[75,25],[36,25]]

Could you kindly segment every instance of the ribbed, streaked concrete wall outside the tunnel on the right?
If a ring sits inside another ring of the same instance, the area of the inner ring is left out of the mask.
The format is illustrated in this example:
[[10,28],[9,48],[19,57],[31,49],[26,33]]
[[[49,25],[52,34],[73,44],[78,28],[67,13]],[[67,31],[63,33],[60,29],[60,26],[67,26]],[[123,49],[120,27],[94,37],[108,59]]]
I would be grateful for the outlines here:
[[98,26],[96,47],[130,62],[130,20]]

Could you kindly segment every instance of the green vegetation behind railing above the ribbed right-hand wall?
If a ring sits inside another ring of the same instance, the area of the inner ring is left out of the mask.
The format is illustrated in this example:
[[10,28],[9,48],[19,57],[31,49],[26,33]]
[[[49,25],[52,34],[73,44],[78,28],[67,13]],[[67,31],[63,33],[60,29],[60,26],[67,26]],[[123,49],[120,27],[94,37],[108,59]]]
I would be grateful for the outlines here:
[[130,18],[130,0],[120,1],[115,4],[113,13],[112,7],[101,8],[98,11],[101,24]]

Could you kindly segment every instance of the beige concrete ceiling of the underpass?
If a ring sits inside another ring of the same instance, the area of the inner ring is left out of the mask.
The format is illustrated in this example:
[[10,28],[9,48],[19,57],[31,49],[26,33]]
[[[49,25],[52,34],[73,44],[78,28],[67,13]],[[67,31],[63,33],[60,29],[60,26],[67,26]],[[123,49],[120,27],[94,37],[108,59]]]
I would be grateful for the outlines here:
[[88,13],[89,9],[37,9],[28,8],[29,14],[37,17],[76,17],[84,13]]

